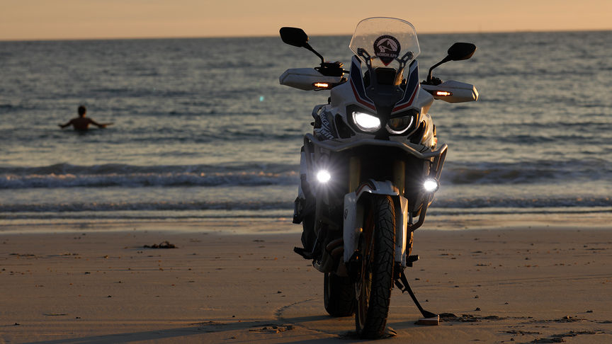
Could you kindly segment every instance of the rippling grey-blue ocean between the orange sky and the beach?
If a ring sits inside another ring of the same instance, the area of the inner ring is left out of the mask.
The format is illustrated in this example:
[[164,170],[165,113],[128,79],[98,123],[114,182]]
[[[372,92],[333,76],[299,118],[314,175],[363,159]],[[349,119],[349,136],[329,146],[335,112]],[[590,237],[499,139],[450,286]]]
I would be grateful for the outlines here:
[[[421,80],[453,42],[478,47],[434,71],[480,99],[431,106],[449,149],[430,217],[612,212],[610,35],[419,35]],[[345,64],[349,41],[310,38]],[[276,37],[0,42],[0,228],[290,218],[329,93],[278,76],[318,62]],[[114,125],[60,130],[81,104]]]

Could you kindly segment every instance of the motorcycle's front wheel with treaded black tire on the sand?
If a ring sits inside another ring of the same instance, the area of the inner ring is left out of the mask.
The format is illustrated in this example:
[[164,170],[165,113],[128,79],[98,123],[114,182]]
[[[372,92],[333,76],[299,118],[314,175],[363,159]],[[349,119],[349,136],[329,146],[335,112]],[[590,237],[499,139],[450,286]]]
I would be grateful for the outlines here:
[[395,207],[390,196],[374,196],[360,239],[361,280],[355,284],[355,325],[361,338],[385,333],[395,260]]

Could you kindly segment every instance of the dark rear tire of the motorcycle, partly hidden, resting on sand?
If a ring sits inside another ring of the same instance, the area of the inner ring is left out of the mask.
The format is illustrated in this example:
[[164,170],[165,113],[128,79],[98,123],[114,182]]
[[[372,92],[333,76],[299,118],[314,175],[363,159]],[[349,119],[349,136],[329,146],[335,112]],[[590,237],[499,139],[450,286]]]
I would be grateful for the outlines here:
[[352,316],[355,313],[355,287],[348,277],[325,273],[323,302],[330,316]]

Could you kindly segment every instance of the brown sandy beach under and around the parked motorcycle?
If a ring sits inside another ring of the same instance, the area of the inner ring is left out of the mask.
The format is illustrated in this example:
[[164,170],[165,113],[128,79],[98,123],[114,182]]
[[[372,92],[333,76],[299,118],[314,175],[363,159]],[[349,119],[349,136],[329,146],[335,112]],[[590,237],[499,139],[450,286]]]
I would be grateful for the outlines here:
[[[434,219],[415,233],[407,276],[443,321],[416,325],[396,288],[397,336],[384,343],[611,343],[606,227]],[[3,227],[0,343],[356,341],[353,317],[325,313],[323,275],[292,252],[299,230],[285,219]],[[145,248],[165,241],[176,248]]]

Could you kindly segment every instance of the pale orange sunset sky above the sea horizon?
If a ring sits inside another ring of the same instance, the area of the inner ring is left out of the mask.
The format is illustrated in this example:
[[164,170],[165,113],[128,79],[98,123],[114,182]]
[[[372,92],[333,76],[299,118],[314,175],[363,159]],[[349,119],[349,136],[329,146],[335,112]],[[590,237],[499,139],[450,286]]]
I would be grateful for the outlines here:
[[289,25],[351,34],[372,16],[419,33],[612,30],[612,0],[0,0],[0,40],[278,35]]

